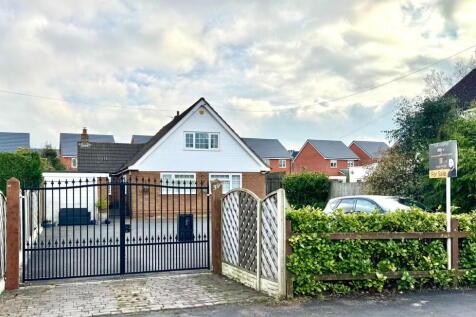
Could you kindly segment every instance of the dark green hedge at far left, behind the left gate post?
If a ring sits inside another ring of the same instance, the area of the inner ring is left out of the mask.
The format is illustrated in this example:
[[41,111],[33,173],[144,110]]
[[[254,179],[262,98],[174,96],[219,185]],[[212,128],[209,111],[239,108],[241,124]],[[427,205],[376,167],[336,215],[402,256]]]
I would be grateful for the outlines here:
[[39,186],[42,180],[41,160],[38,153],[0,153],[0,190],[5,193],[6,183],[16,177],[23,185]]

